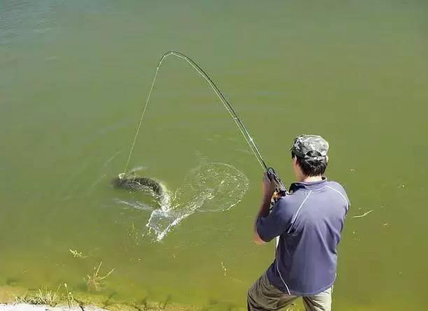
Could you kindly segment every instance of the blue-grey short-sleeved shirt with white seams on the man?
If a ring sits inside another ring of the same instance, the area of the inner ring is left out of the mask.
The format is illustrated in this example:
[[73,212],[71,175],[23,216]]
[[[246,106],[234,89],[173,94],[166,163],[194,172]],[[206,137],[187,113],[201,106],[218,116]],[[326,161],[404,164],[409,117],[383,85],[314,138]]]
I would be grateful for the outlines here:
[[275,260],[267,269],[272,285],[289,295],[316,295],[336,278],[337,244],[350,201],[339,183],[293,183],[257,232],[269,242],[279,236]]

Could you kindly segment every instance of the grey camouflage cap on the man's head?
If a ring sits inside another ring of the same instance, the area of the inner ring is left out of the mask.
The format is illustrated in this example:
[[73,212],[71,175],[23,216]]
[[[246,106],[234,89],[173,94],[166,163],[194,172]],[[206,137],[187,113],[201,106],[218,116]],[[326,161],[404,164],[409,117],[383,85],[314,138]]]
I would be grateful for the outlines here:
[[[323,160],[327,156],[328,142],[318,135],[300,135],[290,148],[298,157],[307,160]],[[317,151],[319,155],[308,155],[310,151]]]

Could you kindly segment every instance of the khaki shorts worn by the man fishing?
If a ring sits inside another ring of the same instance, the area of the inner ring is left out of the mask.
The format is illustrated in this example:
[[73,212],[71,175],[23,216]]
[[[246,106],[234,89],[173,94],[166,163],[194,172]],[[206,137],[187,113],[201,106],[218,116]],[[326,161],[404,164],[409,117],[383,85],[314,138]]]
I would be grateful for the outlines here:
[[[281,310],[300,296],[287,295],[270,284],[266,273],[248,290],[248,311]],[[332,287],[317,295],[303,296],[306,311],[331,311]]]

